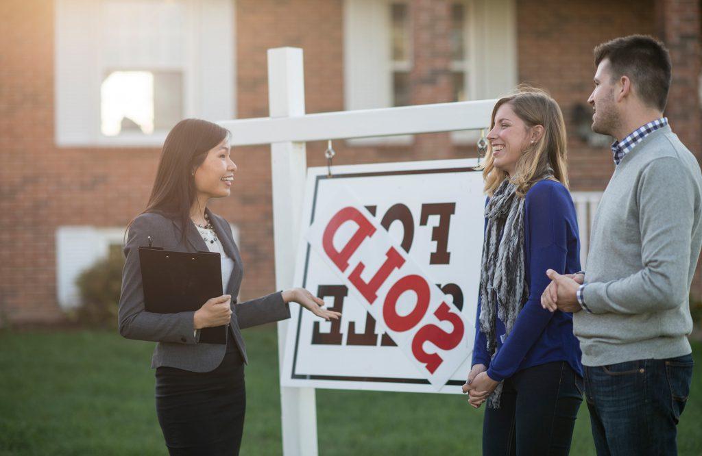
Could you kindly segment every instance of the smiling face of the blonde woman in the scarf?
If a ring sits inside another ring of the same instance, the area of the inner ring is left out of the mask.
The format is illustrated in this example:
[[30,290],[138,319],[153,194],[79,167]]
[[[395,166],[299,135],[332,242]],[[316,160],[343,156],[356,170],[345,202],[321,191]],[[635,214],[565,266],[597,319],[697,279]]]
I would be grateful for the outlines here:
[[510,176],[515,174],[517,161],[529,145],[529,128],[519,119],[510,103],[505,103],[495,113],[495,126],[487,135],[492,148],[493,164]]

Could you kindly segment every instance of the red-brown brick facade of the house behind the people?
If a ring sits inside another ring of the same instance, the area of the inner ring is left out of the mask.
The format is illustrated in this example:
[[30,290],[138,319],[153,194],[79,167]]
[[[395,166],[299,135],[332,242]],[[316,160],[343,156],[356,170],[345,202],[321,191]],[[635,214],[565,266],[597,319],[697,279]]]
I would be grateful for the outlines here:
[[[353,0],[232,0],[237,118],[267,116],[266,50],[279,46],[304,49],[307,112],[347,109],[347,1]],[[668,45],[673,88],[666,114],[689,149],[702,153],[700,1],[511,1],[513,25],[498,17],[487,27],[515,27],[517,81],[549,90],[561,105],[571,189],[602,191],[614,170],[607,146],[592,147],[576,134],[576,114],[592,90],[592,48],[616,36],[654,34]],[[158,161],[154,146],[57,145],[59,2],[8,0],[0,6],[0,326],[62,320],[57,230],[126,226],[145,207]],[[451,1],[407,5],[409,100],[451,101]],[[310,166],[324,164],[325,147],[307,144]],[[402,145],[334,147],[339,164],[475,156],[475,146],[457,144],[449,133],[416,135]],[[270,154],[267,147],[241,147],[233,156],[239,172],[232,196],[212,208],[239,229],[246,265],[241,293],[255,297],[274,288]],[[701,285],[696,280],[697,296]]]

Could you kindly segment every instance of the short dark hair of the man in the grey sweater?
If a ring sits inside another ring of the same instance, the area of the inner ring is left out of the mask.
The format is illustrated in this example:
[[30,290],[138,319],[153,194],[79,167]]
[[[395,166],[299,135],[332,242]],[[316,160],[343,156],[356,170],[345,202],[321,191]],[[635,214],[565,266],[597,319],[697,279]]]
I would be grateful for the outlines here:
[[647,35],[616,38],[595,47],[595,66],[607,59],[615,79],[628,76],[641,100],[663,111],[670,90],[670,53]]

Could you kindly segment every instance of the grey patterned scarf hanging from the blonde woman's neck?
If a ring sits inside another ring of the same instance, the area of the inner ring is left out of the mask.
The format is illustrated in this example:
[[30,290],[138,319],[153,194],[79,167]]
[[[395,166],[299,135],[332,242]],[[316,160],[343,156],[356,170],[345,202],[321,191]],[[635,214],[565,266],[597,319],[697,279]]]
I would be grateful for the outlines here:
[[[485,241],[480,267],[480,332],[487,338],[490,358],[496,353],[496,316],[505,323],[505,337],[529,297],[524,276],[524,198],[505,179],[485,207]],[[487,407],[500,408],[502,382],[487,399]]]

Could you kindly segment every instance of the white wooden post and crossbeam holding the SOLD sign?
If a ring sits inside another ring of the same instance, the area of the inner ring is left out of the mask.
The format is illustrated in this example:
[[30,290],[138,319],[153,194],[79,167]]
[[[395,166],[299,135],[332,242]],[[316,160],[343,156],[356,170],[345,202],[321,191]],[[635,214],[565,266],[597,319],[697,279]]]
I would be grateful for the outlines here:
[[[305,182],[305,142],[371,136],[477,130],[489,122],[496,100],[441,103],[351,112],[305,114],[303,52],[268,51],[270,117],[222,121],[232,147],[270,144],[276,286],[293,285]],[[284,361],[288,323],[279,323],[279,358]],[[281,387],[283,452],[317,455],[314,389]]]

